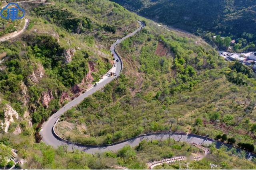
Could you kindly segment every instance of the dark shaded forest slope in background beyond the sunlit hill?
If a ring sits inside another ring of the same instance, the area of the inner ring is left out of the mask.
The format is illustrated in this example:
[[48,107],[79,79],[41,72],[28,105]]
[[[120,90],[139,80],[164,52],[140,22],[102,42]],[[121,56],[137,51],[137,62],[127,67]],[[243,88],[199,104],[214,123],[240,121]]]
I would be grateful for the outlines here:
[[255,47],[254,0],[112,1],[149,19],[201,35],[211,43],[214,35],[231,37],[236,40],[235,51]]

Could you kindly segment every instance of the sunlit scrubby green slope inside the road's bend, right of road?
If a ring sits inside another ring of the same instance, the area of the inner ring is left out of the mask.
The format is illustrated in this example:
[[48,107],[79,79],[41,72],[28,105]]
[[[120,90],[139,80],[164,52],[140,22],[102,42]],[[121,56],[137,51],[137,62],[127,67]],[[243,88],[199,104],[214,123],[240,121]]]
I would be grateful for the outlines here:
[[[117,48],[124,56],[123,75],[67,111],[57,127],[60,135],[110,144],[171,130],[216,139],[227,134],[223,141],[234,137],[234,145],[254,145],[256,81],[248,67],[226,63],[198,39],[147,25]],[[158,55],[159,48],[166,54]],[[66,133],[69,123],[76,126]]]

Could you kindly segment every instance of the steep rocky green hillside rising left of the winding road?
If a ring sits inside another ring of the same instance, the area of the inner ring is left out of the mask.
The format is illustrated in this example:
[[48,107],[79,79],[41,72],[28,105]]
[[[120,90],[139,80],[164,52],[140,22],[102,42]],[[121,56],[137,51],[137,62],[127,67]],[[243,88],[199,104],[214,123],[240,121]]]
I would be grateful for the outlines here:
[[40,127],[98,81],[112,67],[111,43],[138,25],[111,2],[79,3],[21,4],[30,18],[28,29],[0,44],[0,128],[5,132],[28,133],[32,123]]

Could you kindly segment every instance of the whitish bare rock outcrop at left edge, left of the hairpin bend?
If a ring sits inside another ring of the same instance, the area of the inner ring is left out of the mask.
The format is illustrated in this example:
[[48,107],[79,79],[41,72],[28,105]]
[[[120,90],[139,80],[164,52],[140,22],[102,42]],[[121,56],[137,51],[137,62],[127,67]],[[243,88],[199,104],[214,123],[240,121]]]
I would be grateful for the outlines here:
[[1,122],[0,125],[4,129],[4,132],[7,133],[10,127],[10,124],[14,122],[15,119],[18,119],[18,113],[8,104],[4,108],[4,122]]

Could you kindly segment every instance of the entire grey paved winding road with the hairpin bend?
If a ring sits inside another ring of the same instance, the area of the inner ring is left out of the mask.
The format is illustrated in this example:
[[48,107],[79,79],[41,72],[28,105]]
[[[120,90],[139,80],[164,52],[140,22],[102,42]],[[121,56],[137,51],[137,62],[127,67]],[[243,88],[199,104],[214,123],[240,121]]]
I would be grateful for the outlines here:
[[[140,27],[136,29],[133,33],[130,33],[126,37],[123,37],[119,41],[115,42],[111,47],[110,51],[112,54],[114,54],[114,58],[118,59],[119,62],[116,62],[116,67],[112,67],[109,72],[116,73],[117,76],[119,76],[120,72],[122,71],[122,59],[121,57],[116,53],[115,47],[128,37],[131,37],[135,35],[138,31],[140,31],[144,25],[142,22],[140,22]],[[42,125],[42,129],[40,131],[40,135],[42,135],[42,141],[46,145],[51,145],[52,147],[59,147],[62,145],[67,145],[69,150],[72,149],[78,149],[90,154],[94,154],[96,152],[105,152],[105,151],[117,151],[124,147],[125,145],[130,145],[131,147],[137,146],[142,140],[166,140],[166,139],[174,139],[176,141],[185,141],[187,143],[196,143],[198,145],[212,145],[214,144],[216,148],[220,148],[221,146],[226,146],[229,149],[236,149],[236,151],[239,153],[242,151],[242,149],[233,147],[232,145],[228,145],[226,143],[222,143],[220,141],[214,141],[213,139],[209,139],[206,137],[202,137],[199,135],[193,135],[193,134],[186,134],[186,133],[172,133],[172,132],[163,132],[163,133],[150,133],[150,134],[144,134],[140,135],[138,137],[134,137],[131,139],[126,139],[124,141],[120,141],[117,143],[113,143],[110,145],[84,145],[80,143],[71,143],[70,141],[66,141],[62,138],[60,138],[58,135],[56,135],[54,128],[56,123],[58,123],[58,118],[60,115],[64,114],[65,111],[68,109],[71,109],[72,107],[77,106],[80,104],[86,97],[90,96],[94,92],[102,89],[106,84],[114,80],[117,76],[110,76],[109,73],[105,74],[103,78],[98,82],[97,86],[92,86],[89,88],[84,94],[81,94],[78,96],[78,98],[75,98],[66,106],[59,109],[56,113],[54,113],[44,124]],[[244,151],[244,150],[243,150]],[[246,159],[251,160],[253,157],[256,157],[256,154],[247,152],[246,153]]]

